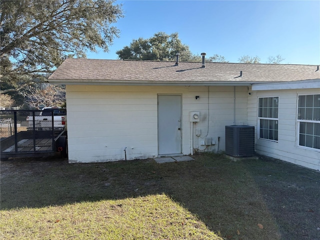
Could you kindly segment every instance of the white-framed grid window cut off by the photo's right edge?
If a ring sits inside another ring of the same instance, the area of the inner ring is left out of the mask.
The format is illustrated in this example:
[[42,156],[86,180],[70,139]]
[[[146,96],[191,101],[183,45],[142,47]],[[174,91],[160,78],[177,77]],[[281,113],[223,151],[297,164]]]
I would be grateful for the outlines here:
[[320,94],[298,96],[298,145],[320,149]]

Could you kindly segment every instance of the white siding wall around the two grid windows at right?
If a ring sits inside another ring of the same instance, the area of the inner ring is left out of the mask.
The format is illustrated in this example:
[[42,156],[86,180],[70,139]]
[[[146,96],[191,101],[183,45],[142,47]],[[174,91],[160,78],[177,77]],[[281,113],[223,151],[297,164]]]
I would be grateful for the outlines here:
[[257,128],[257,98],[267,96],[279,97],[278,142],[257,139],[256,129],[256,152],[311,169],[320,170],[320,151],[297,146],[296,125],[297,95],[319,94],[319,92],[319,88],[252,91],[252,94],[248,97],[248,124],[254,125],[255,129]]

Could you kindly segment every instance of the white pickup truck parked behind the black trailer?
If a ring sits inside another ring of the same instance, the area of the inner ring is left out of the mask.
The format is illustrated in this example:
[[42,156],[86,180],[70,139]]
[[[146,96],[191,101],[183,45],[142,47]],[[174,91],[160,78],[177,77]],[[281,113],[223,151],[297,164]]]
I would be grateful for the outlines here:
[[52,118],[54,130],[64,130],[66,127],[66,110],[57,106],[43,107],[39,115],[27,116],[28,129],[50,130],[52,129]]

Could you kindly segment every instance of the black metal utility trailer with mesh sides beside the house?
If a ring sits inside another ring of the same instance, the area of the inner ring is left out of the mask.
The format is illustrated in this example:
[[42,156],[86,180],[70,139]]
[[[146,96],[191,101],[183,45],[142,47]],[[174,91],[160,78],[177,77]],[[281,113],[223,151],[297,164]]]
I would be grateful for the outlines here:
[[[34,157],[56,155],[67,157],[66,127],[54,127],[53,111],[44,128],[38,128],[36,116],[41,110],[0,111],[0,157]],[[30,127],[30,117],[33,123]]]

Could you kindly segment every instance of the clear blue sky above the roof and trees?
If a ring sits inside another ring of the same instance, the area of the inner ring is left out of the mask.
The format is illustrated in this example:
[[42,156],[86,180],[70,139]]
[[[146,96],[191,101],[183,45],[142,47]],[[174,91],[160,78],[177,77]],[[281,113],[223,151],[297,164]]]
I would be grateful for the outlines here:
[[220,54],[229,62],[242,55],[262,63],[280,54],[289,64],[320,64],[320,1],[119,0],[124,17],[109,52],[88,58],[117,59],[132,39],[178,32],[192,53]]

